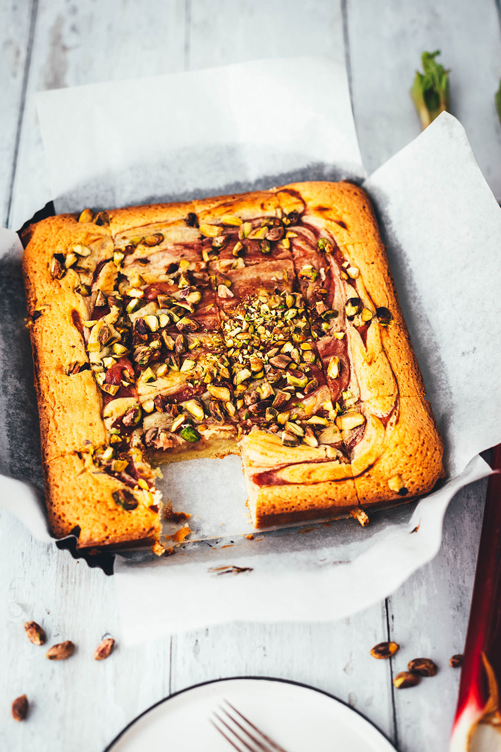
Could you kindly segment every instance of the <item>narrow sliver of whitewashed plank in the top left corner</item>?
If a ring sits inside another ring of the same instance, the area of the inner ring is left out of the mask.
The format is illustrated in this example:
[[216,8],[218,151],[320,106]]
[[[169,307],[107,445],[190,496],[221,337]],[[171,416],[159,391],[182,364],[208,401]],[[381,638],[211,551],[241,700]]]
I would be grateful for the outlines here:
[[17,161],[17,143],[23,118],[26,73],[36,2],[3,2],[0,10],[0,92],[2,92],[2,138],[0,139],[0,223],[8,217],[11,183]]

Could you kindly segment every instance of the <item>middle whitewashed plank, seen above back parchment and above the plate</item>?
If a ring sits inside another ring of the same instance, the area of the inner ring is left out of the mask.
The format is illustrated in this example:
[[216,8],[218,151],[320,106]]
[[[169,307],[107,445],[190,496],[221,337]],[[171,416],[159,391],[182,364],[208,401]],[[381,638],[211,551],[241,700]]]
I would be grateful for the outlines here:
[[[299,54],[344,60],[340,2],[192,0],[190,20],[191,69]],[[235,675],[290,678],[349,702],[391,735],[390,666],[369,654],[386,635],[384,605],[334,624],[238,623],[174,635],[172,690]]]

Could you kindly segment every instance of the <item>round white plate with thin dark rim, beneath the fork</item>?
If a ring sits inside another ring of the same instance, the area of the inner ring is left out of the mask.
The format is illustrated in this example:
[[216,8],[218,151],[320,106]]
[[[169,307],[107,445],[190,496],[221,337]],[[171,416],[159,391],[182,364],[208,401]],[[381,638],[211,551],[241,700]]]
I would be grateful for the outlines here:
[[320,690],[280,679],[235,678],[198,684],[140,715],[104,752],[230,752],[210,723],[228,699],[288,752],[395,752],[375,726]]

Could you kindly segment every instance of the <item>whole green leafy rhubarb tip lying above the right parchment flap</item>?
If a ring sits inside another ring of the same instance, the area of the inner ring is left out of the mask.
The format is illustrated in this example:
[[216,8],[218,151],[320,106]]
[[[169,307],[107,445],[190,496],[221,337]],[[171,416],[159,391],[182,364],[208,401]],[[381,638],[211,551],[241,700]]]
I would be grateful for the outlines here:
[[416,71],[412,84],[412,101],[418,111],[423,129],[449,107],[448,74],[450,71],[445,70],[443,65],[436,62],[435,58],[439,54],[440,50],[435,50],[435,52],[424,52],[421,55],[424,72]]

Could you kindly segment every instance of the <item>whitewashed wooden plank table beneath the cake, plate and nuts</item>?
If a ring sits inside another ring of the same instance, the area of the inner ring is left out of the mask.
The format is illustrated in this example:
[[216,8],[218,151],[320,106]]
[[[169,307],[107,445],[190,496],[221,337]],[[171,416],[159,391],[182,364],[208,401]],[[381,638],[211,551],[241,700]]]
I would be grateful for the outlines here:
[[[346,42],[343,44],[343,38]],[[2,0],[0,217],[18,229],[50,199],[34,92],[247,59],[323,54],[349,65],[368,171],[419,132],[409,99],[423,50],[452,68],[452,111],[501,198],[501,129],[493,92],[501,75],[495,0]],[[329,92],[325,92],[329,96]],[[78,148],[78,144],[75,144]],[[11,515],[0,523],[0,749],[101,752],[138,713],[169,693],[214,678],[263,675],[312,684],[349,702],[401,752],[447,747],[459,673],[448,667],[466,634],[485,482],[463,490],[445,519],[439,556],[385,602],[337,623],[238,623],[120,647],[113,578],[34,540]],[[395,562],[398,566],[398,562]],[[23,622],[77,653],[49,663]],[[92,660],[105,632],[110,660]],[[394,660],[369,649],[394,639]],[[430,656],[436,678],[394,691],[409,659]],[[26,693],[29,720],[10,705]]]

